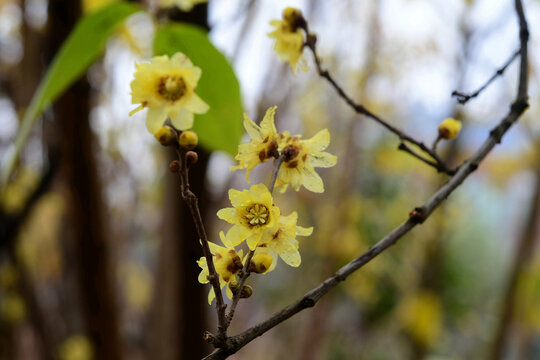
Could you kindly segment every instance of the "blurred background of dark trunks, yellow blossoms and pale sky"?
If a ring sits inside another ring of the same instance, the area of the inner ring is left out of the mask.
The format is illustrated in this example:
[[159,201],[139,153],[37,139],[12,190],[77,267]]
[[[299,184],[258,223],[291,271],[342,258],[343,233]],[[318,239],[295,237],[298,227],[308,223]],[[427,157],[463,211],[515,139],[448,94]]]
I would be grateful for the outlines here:
[[[78,19],[113,0],[0,0],[0,154],[48,64]],[[209,286],[174,154],[128,113],[136,61],[152,56],[160,21],[209,29],[233,65],[246,113],[277,105],[278,131],[329,128],[338,164],[320,170],[323,194],[277,195],[285,214],[314,226],[300,239],[302,265],[250,278],[231,333],[243,331],[316,286],[407,218],[448,179],[397,150],[398,139],[356,115],[309,70],[295,77],[267,37],[286,6],[300,8],[323,61],[368,109],[431,144],[446,117],[460,136],[439,146],[456,166],[506,114],[517,87],[513,63],[465,106],[518,49],[511,0],[210,0],[193,11],[127,19],[99,61],[31,132],[3,189],[0,359],[199,359],[215,329]],[[247,345],[235,359],[540,359],[540,1],[529,20],[530,108],[431,218],[306,310]],[[204,76],[204,74],[203,74]],[[223,89],[227,92],[228,89]],[[238,118],[241,122],[241,118]],[[247,140],[247,137],[244,138]],[[198,150],[192,183],[211,239],[228,225],[216,211],[229,188],[230,154]],[[2,165],[5,165],[2,156]],[[268,182],[271,164],[253,171]]]

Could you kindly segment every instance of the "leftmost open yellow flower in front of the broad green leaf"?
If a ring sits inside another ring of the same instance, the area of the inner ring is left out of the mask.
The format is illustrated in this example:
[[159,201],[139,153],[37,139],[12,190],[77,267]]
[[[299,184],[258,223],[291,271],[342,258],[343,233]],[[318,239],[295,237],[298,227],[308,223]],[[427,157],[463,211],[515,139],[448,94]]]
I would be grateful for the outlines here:
[[204,114],[208,105],[195,94],[201,69],[182,53],[169,59],[156,56],[149,63],[137,64],[131,82],[131,102],[140,104],[129,115],[148,108],[146,127],[155,134],[167,117],[178,130],[193,126],[193,114]]

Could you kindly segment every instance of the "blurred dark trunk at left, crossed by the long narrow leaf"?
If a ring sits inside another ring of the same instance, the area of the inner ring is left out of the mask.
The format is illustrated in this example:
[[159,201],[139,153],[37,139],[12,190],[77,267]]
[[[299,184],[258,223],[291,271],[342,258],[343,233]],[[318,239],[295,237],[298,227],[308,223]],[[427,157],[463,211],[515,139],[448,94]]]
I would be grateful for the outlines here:
[[[50,0],[48,8],[50,46],[47,60],[66,39],[81,15],[80,1]],[[77,81],[54,105],[57,145],[67,193],[70,241],[77,262],[79,298],[85,327],[100,360],[122,358],[118,318],[111,273],[107,230],[103,219],[94,135],[90,129],[90,88],[85,78]]]

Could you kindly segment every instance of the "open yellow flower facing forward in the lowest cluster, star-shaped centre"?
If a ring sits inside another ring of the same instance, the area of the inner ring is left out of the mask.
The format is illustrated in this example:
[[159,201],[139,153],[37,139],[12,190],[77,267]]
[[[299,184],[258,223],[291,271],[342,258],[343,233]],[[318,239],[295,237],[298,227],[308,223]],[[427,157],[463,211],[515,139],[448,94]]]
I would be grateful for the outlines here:
[[227,240],[232,246],[246,240],[249,248],[254,250],[265,231],[277,223],[279,208],[274,205],[272,194],[262,184],[243,191],[231,189],[229,199],[233,207],[217,213],[220,219],[233,224],[227,232]]

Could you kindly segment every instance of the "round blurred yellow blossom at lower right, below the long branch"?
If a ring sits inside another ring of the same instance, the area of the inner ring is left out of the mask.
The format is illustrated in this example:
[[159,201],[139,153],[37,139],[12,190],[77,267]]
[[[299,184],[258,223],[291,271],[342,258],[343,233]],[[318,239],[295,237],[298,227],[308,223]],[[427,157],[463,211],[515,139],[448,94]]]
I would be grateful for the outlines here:
[[398,305],[398,319],[405,331],[425,347],[435,344],[442,331],[442,304],[432,291],[411,293]]

